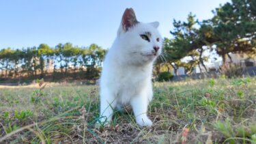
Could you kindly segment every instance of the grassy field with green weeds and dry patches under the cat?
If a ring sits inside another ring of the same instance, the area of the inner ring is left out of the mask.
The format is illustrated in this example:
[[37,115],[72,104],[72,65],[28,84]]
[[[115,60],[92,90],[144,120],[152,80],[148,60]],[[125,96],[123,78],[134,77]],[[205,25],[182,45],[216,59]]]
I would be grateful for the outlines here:
[[154,83],[151,128],[116,111],[96,126],[98,86],[0,87],[0,143],[256,143],[256,78]]

